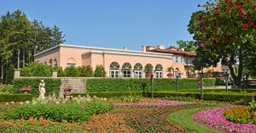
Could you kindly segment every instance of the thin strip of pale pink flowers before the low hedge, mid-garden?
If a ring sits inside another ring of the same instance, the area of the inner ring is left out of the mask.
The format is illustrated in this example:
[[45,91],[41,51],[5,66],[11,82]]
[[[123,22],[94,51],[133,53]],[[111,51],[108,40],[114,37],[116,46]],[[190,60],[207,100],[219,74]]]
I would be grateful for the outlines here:
[[183,103],[171,100],[154,100],[152,103],[113,103],[116,106],[172,106],[180,104]]

